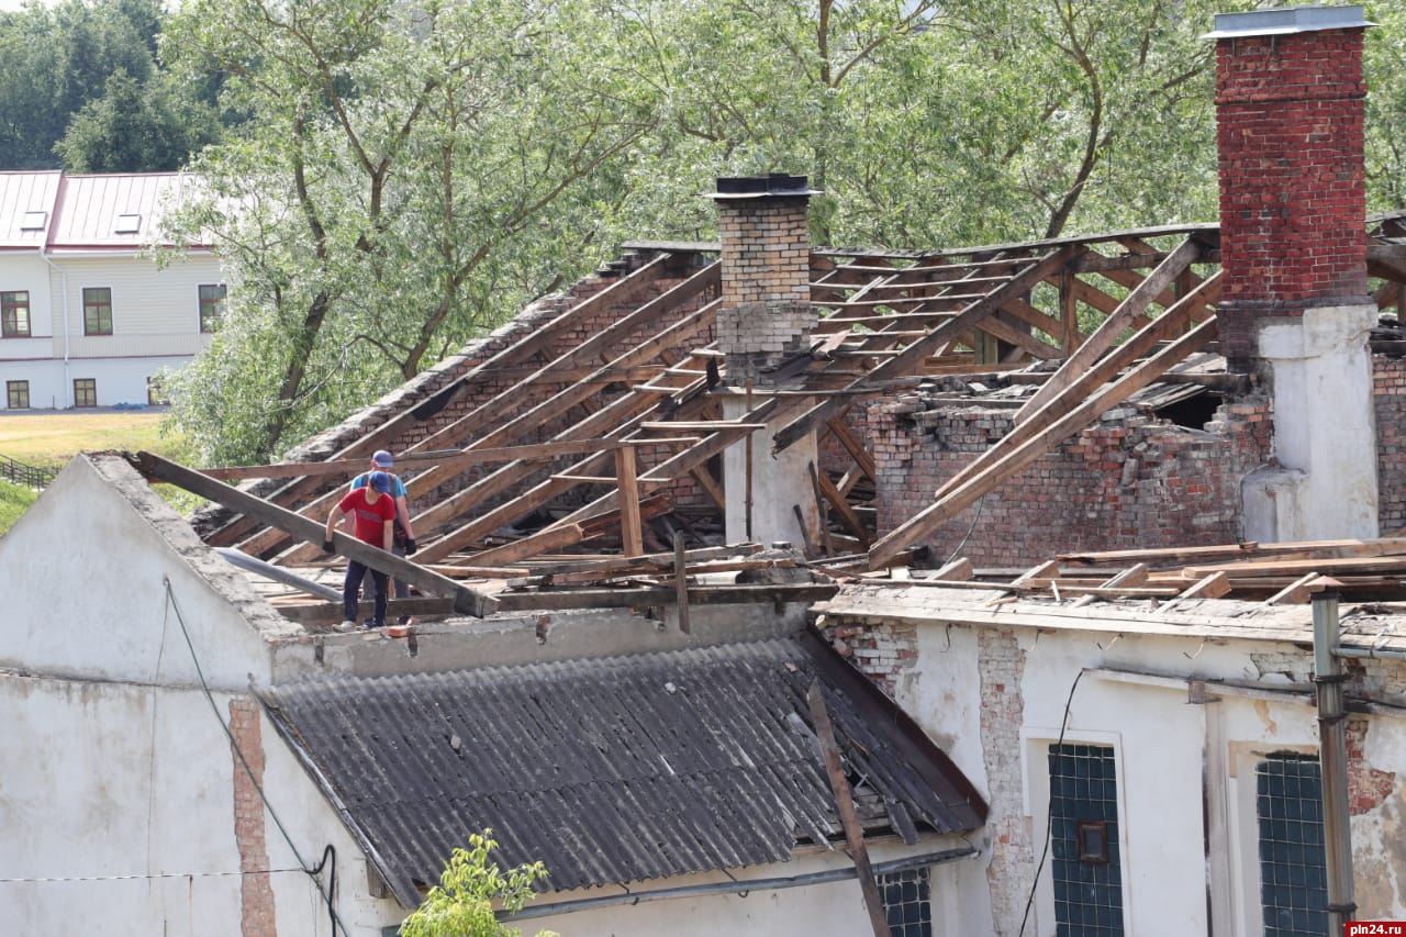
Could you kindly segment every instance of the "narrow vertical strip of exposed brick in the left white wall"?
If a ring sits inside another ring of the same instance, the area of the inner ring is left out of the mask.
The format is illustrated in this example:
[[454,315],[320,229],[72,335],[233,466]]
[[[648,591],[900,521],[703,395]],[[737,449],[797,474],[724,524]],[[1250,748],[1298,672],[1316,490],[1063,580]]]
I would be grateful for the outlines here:
[[[239,751],[231,748],[233,761],[235,844],[239,847],[239,933],[243,937],[277,937],[278,926],[269,882],[269,850],[264,843],[264,806],[259,796],[263,786],[263,733],[259,703],[253,699],[229,701],[229,734]],[[243,761],[239,754],[243,753]],[[245,763],[249,768],[245,770]],[[253,772],[253,778],[249,774]]]

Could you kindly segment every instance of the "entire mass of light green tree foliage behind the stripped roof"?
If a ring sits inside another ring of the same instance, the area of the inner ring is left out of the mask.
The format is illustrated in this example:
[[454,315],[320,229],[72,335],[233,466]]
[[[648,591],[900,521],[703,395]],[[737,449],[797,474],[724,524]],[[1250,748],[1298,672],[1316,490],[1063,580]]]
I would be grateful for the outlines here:
[[[177,419],[209,457],[274,456],[620,241],[710,238],[717,176],[810,176],[832,245],[1213,221],[1202,37],[1254,6],[187,0],[163,52],[243,122],[194,163],[188,224],[236,290]],[[1381,7],[1378,210],[1406,197],[1406,24]]]

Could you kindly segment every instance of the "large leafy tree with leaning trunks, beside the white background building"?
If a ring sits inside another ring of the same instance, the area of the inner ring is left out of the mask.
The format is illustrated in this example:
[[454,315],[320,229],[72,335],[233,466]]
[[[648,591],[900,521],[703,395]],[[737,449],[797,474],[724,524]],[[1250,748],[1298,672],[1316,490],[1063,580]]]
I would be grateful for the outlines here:
[[207,453],[276,454],[610,249],[548,211],[648,127],[595,68],[593,23],[575,0],[193,0],[172,18],[183,76],[226,75],[222,104],[249,118],[195,163],[211,198],[187,217],[246,319],[173,380]]

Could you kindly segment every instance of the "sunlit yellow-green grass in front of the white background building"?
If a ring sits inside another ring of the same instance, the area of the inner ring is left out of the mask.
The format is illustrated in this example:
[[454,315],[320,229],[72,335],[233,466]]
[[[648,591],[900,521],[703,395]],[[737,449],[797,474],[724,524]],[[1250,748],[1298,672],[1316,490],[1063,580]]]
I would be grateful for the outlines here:
[[[80,452],[145,449],[190,464],[190,447],[181,436],[162,433],[160,411],[34,411],[0,416],[0,456],[39,468],[62,468]],[[155,485],[180,514],[202,504],[172,485]],[[34,504],[37,492],[0,480],[0,536]]]

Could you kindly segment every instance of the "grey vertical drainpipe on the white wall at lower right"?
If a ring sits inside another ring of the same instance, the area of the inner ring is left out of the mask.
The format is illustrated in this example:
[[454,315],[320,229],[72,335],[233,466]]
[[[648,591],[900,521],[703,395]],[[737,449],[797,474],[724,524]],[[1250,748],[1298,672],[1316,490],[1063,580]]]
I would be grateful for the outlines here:
[[1341,934],[1353,920],[1353,829],[1347,806],[1347,674],[1337,649],[1339,582],[1320,577],[1313,587],[1313,682],[1319,703],[1319,764],[1323,771],[1323,840],[1327,854],[1327,933]]

